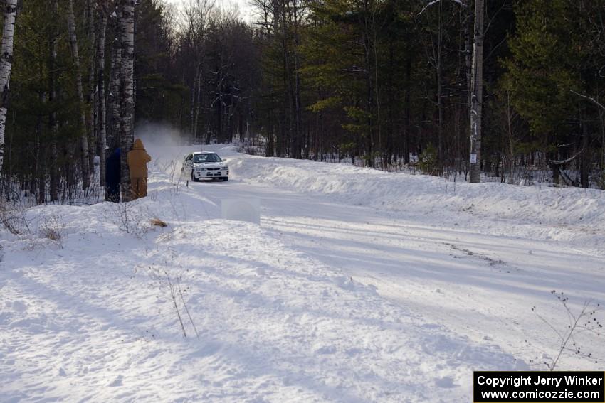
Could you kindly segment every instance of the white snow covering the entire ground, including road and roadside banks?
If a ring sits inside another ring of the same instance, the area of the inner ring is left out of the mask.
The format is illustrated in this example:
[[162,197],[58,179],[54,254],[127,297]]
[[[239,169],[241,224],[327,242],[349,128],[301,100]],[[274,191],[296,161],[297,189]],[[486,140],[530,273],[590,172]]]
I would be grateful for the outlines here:
[[[147,198],[0,232],[0,401],[470,402],[473,370],[557,355],[553,290],[605,302],[603,192],[232,146],[211,147],[230,181],[186,187],[194,147],[148,146]],[[261,225],[221,220],[226,198],[260,200]],[[603,336],[576,341],[591,360],[557,366],[602,370]]]

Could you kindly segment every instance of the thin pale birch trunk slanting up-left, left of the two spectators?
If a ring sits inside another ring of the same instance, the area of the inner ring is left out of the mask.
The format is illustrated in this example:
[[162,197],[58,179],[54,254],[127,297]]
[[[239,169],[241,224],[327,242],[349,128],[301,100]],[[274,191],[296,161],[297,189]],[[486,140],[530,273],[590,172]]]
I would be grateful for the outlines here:
[[68,34],[71,45],[73,64],[75,65],[75,84],[78,88],[78,102],[80,104],[80,166],[82,168],[82,188],[90,188],[90,165],[88,161],[88,133],[86,126],[86,112],[84,108],[84,90],[82,87],[82,71],[80,70],[80,54],[78,53],[78,37],[75,35],[75,16],[73,15],[73,0],[68,1]]

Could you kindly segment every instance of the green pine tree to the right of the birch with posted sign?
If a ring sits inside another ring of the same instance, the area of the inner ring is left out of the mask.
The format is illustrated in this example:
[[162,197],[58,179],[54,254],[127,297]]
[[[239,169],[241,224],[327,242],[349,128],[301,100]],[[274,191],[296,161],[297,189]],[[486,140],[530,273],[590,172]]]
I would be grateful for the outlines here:
[[534,146],[547,154],[554,183],[559,183],[559,145],[569,134],[580,83],[577,31],[568,0],[527,0],[517,5],[517,32],[505,65],[504,87],[530,124]]

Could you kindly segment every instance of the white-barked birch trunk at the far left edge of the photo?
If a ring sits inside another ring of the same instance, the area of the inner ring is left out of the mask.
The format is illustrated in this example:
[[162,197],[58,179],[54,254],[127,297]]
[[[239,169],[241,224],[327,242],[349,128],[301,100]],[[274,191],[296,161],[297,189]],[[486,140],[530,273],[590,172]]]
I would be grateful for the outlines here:
[[0,168],[4,163],[4,127],[6,126],[6,106],[9,100],[9,83],[13,65],[13,38],[17,0],[6,0],[4,8],[4,31],[0,49]]

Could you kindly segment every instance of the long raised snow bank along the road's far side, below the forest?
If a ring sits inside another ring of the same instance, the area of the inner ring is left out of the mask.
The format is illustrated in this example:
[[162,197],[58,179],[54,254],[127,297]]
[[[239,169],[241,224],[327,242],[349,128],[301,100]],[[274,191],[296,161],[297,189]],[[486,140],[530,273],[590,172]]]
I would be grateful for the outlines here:
[[433,176],[233,151],[231,171],[251,181],[389,210],[399,217],[421,216],[436,225],[594,247],[605,244],[605,192],[601,190],[452,183]]

